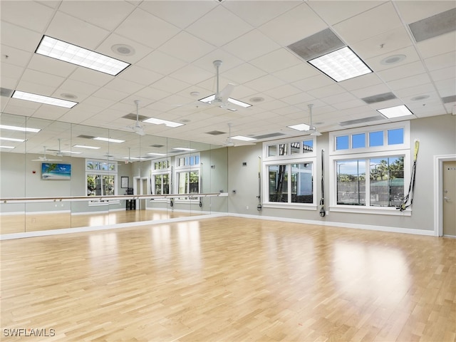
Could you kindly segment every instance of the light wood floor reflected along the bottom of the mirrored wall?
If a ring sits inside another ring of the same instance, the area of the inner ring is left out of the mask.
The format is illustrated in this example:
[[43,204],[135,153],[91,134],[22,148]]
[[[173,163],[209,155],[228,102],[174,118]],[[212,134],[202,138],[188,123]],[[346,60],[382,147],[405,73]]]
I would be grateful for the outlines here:
[[177,217],[202,215],[200,211],[172,212],[171,210],[118,210],[112,212],[93,212],[92,214],[71,215],[56,214],[21,214],[0,215],[0,234],[37,232],[41,230],[65,229],[75,227],[98,227],[127,222],[158,221]]

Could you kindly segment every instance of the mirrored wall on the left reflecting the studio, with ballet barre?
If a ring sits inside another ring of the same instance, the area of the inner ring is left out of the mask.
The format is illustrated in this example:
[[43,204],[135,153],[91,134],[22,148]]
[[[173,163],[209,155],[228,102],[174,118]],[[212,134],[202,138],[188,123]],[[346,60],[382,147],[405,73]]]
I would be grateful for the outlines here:
[[227,212],[226,147],[19,115],[0,123],[1,234]]

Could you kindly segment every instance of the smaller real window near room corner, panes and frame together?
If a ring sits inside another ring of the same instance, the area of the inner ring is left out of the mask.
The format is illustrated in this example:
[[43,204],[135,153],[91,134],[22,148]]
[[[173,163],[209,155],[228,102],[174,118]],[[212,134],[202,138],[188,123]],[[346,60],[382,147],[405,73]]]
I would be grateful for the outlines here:
[[265,207],[315,208],[314,138],[264,143]]

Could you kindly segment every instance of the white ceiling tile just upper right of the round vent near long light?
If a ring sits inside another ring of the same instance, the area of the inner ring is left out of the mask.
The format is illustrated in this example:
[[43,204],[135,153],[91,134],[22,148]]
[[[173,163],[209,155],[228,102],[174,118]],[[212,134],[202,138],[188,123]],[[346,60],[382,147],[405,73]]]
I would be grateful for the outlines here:
[[[152,16],[152,14],[135,9],[130,16],[115,30],[120,36],[138,41],[145,46],[157,48],[168,39],[179,33],[180,29],[174,25]],[[160,32],[160,34],[155,34]]]

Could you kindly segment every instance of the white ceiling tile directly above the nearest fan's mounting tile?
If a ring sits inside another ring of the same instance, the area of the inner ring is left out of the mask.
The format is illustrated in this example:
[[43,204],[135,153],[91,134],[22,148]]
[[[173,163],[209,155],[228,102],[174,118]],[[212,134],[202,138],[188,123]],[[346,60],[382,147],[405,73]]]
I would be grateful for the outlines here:
[[[211,29],[208,30],[208,27]],[[217,6],[202,16],[199,21],[188,26],[187,31],[214,46],[224,46],[229,41],[251,31],[252,28],[223,6]]]

